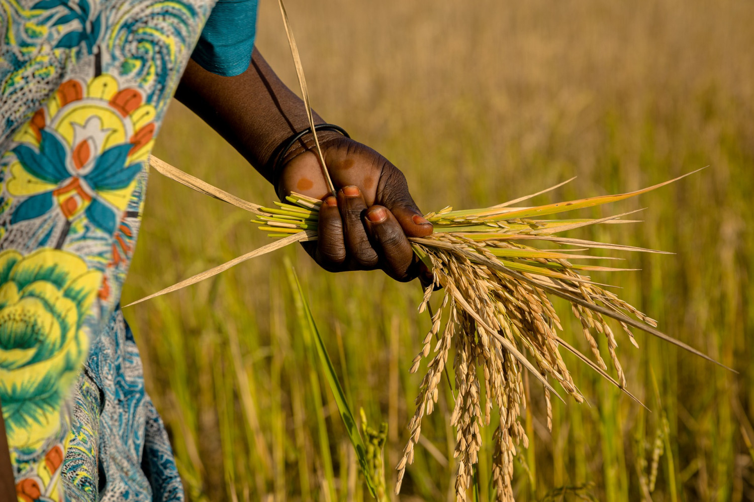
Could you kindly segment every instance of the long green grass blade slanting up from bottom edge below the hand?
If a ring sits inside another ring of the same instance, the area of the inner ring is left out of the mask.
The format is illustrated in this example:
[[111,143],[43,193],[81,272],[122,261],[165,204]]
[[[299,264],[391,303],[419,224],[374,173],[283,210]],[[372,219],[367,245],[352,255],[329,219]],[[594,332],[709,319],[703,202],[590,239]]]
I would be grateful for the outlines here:
[[317,325],[314,324],[314,317],[311,315],[311,309],[309,309],[309,303],[306,301],[304,291],[301,287],[301,282],[299,281],[299,276],[296,275],[296,270],[293,269],[293,267],[291,267],[291,272],[293,282],[295,282],[296,285],[296,293],[299,295],[302,305],[304,306],[304,315],[306,321],[309,325],[311,333],[314,334],[314,345],[317,348],[317,354],[320,358],[322,371],[325,374],[330,390],[333,391],[333,396],[335,397],[336,404],[338,405],[338,411],[340,412],[340,418],[342,418],[343,420],[345,431],[348,432],[348,437],[351,439],[351,444],[354,445],[356,457],[359,461],[359,467],[364,475],[364,479],[366,480],[366,487],[369,488],[369,494],[371,494],[372,497],[377,498],[377,492],[375,490],[374,483],[372,482],[372,476],[369,474],[369,463],[366,461],[366,449],[364,449],[361,435],[359,434],[359,430],[356,426],[356,420],[354,419],[353,413],[351,413],[351,407],[348,406],[348,401],[345,399],[345,392],[340,385],[338,375],[335,373],[333,361],[330,360],[329,354],[327,353],[327,348],[325,347],[325,344],[322,340],[322,336],[320,336],[320,332],[319,330],[317,330]]

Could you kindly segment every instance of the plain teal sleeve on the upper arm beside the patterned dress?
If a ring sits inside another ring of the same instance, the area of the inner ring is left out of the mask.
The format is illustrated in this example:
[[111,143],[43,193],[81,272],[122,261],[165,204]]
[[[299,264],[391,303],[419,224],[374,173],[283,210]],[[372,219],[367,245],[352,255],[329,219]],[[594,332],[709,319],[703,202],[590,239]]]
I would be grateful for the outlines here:
[[219,0],[204,25],[192,59],[223,77],[246,71],[254,48],[258,6],[259,0]]

